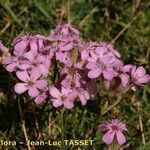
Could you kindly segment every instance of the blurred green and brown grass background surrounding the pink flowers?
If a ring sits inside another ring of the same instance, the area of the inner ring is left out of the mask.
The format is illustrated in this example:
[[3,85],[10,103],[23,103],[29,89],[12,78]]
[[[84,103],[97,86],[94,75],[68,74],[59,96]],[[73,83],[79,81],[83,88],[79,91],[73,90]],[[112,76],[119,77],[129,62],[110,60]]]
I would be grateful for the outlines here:
[[[142,65],[150,72],[149,0],[0,0],[0,39],[7,46],[18,34],[48,35],[61,22],[75,26],[87,41],[111,42],[125,63]],[[0,140],[24,141],[14,84],[14,76],[0,66]],[[59,139],[61,129],[57,124],[61,121],[58,110],[52,111],[51,106],[46,106],[41,111],[43,105],[31,107],[30,100],[25,96],[23,98],[21,107],[28,137],[36,140],[36,133],[40,132],[40,139]],[[74,110],[66,112],[68,139],[91,139],[93,121],[98,111],[96,104],[91,100],[86,107],[77,104]],[[150,86],[139,88],[135,93],[130,92],[115,107],[115,111],[116,117],[129,128],[123,149],[150,150]],[[109,117],[107,113],[102,121]],[[101,137],[102,133],[97,132],[93,147],[68,149],[106,149]],[[4,149],[25,147],[5,146]]]

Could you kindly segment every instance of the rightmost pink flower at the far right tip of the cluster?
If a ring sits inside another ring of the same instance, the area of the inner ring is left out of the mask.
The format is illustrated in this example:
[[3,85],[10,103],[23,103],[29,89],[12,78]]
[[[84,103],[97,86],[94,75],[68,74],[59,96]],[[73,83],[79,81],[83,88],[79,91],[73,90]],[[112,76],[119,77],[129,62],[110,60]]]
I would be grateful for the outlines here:
[[142,66],[133,66],[131,69],[131,80],[135,85],[142,86],[150,81],[150,76],[146,74],[146,70]]

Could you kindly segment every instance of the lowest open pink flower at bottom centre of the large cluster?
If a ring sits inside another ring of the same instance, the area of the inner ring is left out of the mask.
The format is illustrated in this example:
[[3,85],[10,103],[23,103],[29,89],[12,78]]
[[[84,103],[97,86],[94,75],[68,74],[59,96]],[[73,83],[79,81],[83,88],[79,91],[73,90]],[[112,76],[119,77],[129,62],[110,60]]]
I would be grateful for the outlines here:
[[50,88],[50,95],[52,96],[52,102],[54,107],[59,107],[64,105],[67,109],[72,109],[74,107],[74,99],[77,94],[73,92],[70,88],[61,87],[59,91],[56,87]]

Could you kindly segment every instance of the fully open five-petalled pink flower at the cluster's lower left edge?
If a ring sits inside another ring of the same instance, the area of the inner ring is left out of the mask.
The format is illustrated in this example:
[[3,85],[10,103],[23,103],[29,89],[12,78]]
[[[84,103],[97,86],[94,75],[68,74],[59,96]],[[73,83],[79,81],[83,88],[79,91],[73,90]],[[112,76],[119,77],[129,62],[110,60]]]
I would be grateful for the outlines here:
[[36,97],[40,94],[38,89],[44,89],[47,86],[47,81],[44,79],[39,79],[39,74],[29,74],[27,71],[18,71],[16,73],[17,77],[23,81],[22,83],[17,83],[14,87],[15,92],[22,94],[28,90],[28,95],[31,97]]

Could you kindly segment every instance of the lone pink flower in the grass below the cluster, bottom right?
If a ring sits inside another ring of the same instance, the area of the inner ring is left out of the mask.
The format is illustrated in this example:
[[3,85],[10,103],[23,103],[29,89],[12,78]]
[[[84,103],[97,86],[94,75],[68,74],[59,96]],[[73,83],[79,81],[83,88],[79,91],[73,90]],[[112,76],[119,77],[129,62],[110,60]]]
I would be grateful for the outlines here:
[[114,139],[116,139],[120,145],[126,142],[126,138],[122,132],[128,131],[128,129],[123,122],[117,119],[112,119],[106,124],[102,123],[99,129],[106,132],[103,136],[103,141],[108,145],[111,144]]

